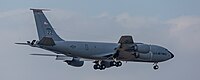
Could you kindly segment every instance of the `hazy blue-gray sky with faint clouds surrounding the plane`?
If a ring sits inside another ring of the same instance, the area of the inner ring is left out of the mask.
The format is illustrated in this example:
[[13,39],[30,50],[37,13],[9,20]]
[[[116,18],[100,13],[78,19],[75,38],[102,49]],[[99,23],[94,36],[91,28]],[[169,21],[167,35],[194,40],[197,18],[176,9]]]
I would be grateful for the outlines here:
[[[200,79],[200,0],[0,0],[0,80],[198,80]],[[168,48],[175,57],[159,63],[124,63],[120,68],[93,70],[69,66],[52,52],[15,45],[38,39],[30,8],[45,12],[65,40],[134,41]]]

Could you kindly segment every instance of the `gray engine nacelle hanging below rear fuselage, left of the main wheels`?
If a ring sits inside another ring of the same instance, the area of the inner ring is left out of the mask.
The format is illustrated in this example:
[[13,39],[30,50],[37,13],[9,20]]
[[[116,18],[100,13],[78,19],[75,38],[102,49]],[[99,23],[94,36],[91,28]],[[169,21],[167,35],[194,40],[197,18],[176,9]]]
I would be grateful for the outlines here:
[[71,66],[74,66],[74,67],[82,67],[83,64],[84,64],[84,61],[79,61],[79,60],[75,60],[75,59],[73,59],[73,60],[71,60],[71,61],[66,60],[65,62],[66,62],[68,65],[71,65]]

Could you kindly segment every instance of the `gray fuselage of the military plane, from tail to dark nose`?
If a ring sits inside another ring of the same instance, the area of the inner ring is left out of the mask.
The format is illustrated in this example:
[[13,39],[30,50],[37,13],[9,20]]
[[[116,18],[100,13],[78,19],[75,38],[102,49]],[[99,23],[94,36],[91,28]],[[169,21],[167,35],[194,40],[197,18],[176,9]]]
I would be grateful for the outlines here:
[[[116,53],[118,43],[102,43],[102,42],[78,42],[78,41],[56,41],[55,46],[39,46],[40,48],[53,51],[58,54],[64,54],[71,57],[82,57],[85,59],[105,60],[110,59],[107,55]],[[143,43],[136,43],[147,45]],[[119,58],[122,61],[134,62],[162,62],[173,58],[173,54],[166,48],[157,45],[148,45],[150,51],[140,53],[140,58],[135,58],[134,55],[124,55]],[[104,57],[105,56],[105,57]]]

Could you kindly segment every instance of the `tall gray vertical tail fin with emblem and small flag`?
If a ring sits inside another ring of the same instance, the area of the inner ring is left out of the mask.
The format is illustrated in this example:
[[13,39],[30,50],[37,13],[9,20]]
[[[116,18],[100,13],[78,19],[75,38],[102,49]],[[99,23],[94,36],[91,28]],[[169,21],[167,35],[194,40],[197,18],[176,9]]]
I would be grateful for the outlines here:
[[42,40],[43,37],[49,37],[52,38],[54,41],[63,41],[63,39],[61,39],[56,34],[51,24],[47,20],[46,16],[44,15],[43,11],[46,9],[30,9],[30,10],[33,10],[39,40]]

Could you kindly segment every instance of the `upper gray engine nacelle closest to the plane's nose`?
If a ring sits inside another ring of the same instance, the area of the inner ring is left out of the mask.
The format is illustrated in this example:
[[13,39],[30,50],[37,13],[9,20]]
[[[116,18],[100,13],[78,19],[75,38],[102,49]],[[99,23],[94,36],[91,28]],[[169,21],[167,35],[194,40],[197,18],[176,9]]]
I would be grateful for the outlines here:
[[135,51],[139,53],[149,53],[150,46],[147,44],[136,44]]

